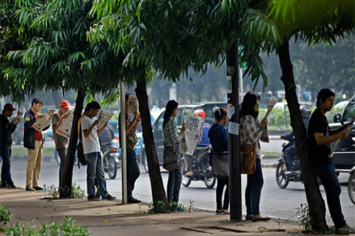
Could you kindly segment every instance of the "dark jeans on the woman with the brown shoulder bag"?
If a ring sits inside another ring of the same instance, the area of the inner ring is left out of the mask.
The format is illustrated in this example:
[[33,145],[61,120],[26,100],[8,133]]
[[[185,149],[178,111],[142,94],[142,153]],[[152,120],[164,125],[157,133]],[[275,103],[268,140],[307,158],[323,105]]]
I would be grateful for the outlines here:
[[245,189],[245,203],[247,215],[260,214],[260,196],[263,189],[263,171],[261,170],[261,159],[256,158],[256,170],[248,174]]

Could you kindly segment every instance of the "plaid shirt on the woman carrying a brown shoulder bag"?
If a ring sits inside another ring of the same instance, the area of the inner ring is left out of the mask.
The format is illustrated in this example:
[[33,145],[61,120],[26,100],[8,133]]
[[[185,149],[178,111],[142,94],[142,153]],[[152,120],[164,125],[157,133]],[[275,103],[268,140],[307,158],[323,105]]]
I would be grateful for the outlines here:
[[263,128],[258,122],[258,119],[254,119],[253,116],[243,116],[241,118],[240,125],[241,132],[241,145],[255,145],[256,144],[256,157],[261,158],[260,142],[269,142],[268,129]]

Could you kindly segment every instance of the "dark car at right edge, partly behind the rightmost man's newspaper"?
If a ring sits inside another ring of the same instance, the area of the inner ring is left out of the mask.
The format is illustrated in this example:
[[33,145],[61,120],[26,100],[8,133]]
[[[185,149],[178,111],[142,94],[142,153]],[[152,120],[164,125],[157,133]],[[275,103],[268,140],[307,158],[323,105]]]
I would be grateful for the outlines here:
[[[355,95],[348,101],[342,113],[334,116],[334,123],[329,123],[329,128],[335,130],[345,123],[349,123],[354,116]],[[331,147],[334,147],[334,143],[332,143]],[[355,124],[352,125],[348,137],[335,150],[333,162],[337,172],[349,172],[355,166]]]

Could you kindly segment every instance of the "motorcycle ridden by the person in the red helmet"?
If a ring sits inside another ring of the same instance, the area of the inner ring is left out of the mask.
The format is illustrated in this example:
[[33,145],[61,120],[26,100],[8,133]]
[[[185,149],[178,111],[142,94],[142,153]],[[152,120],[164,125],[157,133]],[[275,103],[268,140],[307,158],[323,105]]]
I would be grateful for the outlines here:
[[204,181],[204,184],[208,189],[212,189],[216,183],[216,178],[212,176],[212,167],[209,165],[209,152],[211,147],[204,147],[201,150],[195,151],[195,155],[192,156],[192,176],[185,176],[187,173],[187,162],[184,159],[182,185],[188,187],[191,181]]

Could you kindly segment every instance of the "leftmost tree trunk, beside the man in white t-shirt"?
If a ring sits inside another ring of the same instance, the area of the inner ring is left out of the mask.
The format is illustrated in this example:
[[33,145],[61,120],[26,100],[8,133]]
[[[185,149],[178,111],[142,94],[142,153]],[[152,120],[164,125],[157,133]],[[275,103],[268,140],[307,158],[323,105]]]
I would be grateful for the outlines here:
[[75,162],[75,152],[77,150],[77,123],[82,116],[82,108],[85,98],[85,91],[79,89],[77,91],[77,100],[75,101],[74,117],[72,119],[72,130],[70,133],[69,147],[67,149],[67,157],[64,165],[64,178],[60,179],[60,198],[72,197],[72,169]]

